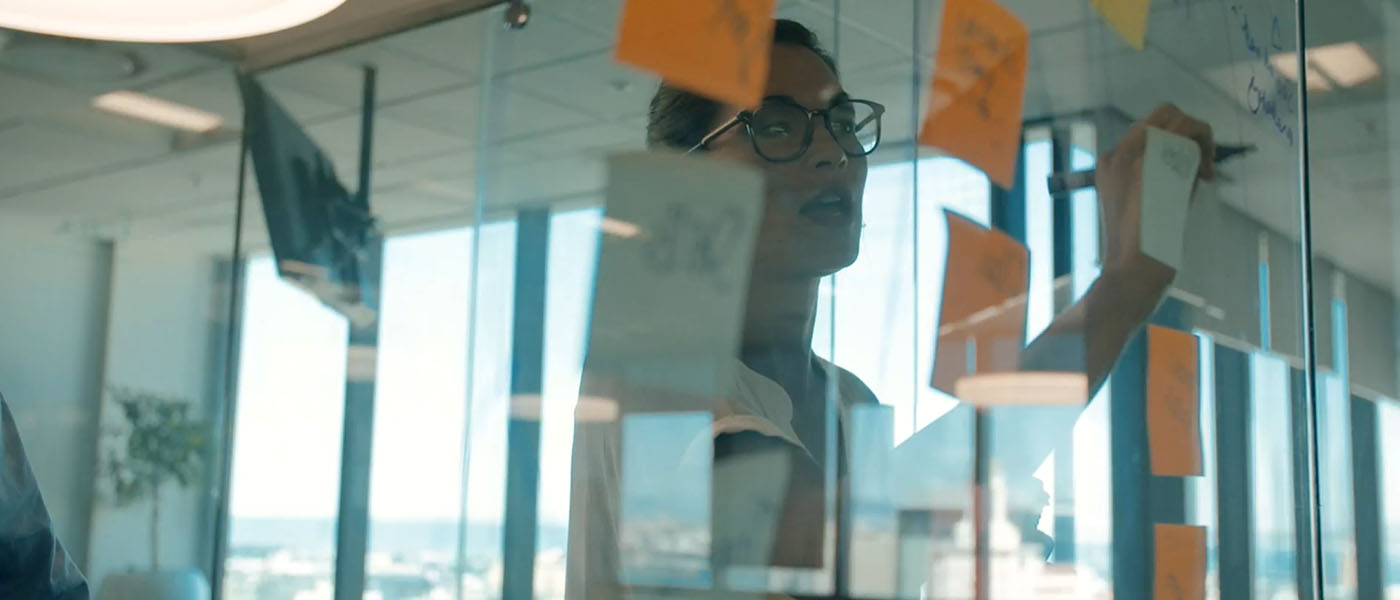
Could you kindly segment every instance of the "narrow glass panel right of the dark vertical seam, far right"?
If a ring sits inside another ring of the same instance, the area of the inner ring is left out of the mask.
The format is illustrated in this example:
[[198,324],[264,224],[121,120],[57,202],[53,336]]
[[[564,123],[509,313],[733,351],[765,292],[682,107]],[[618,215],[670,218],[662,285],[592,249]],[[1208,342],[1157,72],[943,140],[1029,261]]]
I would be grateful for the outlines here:
[[1305,4],[1306,173],[1317,364],[1320,578],[1327,597],[1397,597],[1396,7]]

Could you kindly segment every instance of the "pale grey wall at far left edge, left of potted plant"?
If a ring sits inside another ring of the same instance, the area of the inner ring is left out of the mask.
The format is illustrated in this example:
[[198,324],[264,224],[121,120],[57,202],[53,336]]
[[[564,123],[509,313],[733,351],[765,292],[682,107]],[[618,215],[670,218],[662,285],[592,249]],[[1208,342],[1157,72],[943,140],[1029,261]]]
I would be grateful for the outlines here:
[[55,530],[84,564],[111,249],[0,220],[0,393]]

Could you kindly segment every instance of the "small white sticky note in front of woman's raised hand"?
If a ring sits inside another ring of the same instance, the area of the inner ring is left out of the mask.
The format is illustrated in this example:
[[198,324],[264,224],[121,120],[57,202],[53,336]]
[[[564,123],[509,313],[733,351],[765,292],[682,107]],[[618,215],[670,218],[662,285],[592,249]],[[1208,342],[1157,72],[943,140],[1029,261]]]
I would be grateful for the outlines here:
[[1147,129],[1142,152],[1142,253],[1172,269],[1182,269],[1182,243],[1191,186],[1201,161],[1201,147],[1156,127]]

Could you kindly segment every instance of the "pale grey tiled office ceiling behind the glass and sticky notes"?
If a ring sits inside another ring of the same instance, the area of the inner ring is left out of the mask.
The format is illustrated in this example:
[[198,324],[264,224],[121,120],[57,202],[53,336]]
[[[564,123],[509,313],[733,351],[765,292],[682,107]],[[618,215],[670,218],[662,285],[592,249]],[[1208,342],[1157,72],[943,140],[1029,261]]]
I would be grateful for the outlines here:
[[[451,14],[424,8],[431,3],[412,4],[421,15]],[[440,4],[461,11],[463,3]],[[1103,27],[1088,1],[1002,4],[1032,29],[1028,117],[1105,105],[1144,115],[1159,102],[1175,102],[1208,120],[1218,138],[1260,147],[1229,166],[1235,183],[1218,186],[1217,193],[1296,236],[1296,151],[1267,116],[1249,110],[1249,76],[1263,67],[1239,45],[1242,24],[1231,8],[1242,6],[1260,28],[1254,35],[1264,35],[1264,24],[1277,17],[1280,38],[1292,46],[1289,1],[1158,0],[1144,52],[1133,52]],[[617,6],[619,0],[535,1],[533,18],[521,31],[504,31],[497,11],[477,13],[273,69],[262,80],[353,187],[361,69],[378,69],[372,203],[391,227],[465,222],[479,192],[486,192],[487,210],[587,201],[602,186],[601,158],[641,145],[655,85],[650,76],[610,60]],[[913,137],[914,108],[924,102],[913,98],[910,84],[916,78],[920,88],[927,84],[939,8],[941,3],[920,1],[916,14],[910,0],[780,3],[781,15],[808,24],[836,46],[848,90],[889,106],[890,150],[883,159],[907,158],[899,143]],[[1382,29],[1393,18],[1390,8],[1382,10],[1379,0],[1338,0],[1327,10],[1309,21],[1310,45],[1358,41],[1385,67]],[[374,20],[393,22],[386,15]],[[232,243],[238,166],[232,129],[241,119],[231,57],[266,63],[279,56],[266,50],[255,57],[248,55],[252,48],[8,35],[0,42],[0,218],[29,220],[60,235],[168,239],[225,250]],[[286,43],[262,48],[290,52]],[[489,83],[487,73],[494,74]],[[1396,81],[1387,73],[1378,83],[1309,98],[1317,249],[1387,287],[1396,284],[1396,211],[1386,90]],[[230,130],[181,137],[88,106],[92,97],[112,90],[139,90],[218,113]],[[484,113],[483,98],[489,98]],[[482,140],[489,152],[480,152]],[[486,176],[479,179],[477,172]],[[255,201],[248,206],[256,208]],[[258,243],[259,211],[245,217],[245,234]]]

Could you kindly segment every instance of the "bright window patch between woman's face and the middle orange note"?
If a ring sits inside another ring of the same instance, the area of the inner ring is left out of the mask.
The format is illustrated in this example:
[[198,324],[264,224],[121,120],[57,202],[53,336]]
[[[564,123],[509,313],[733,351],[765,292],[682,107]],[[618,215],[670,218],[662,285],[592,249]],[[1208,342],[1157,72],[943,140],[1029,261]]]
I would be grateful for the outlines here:
[[928,387],[948,252],[942,208],[983,225],[991,218],[980,171],[946,157],[917,165],[917,210],[910,162],[871,168],[860,257],[823,281],[812,338],[819,355],[855,373],[893,407],[896,443],[955,406]]

